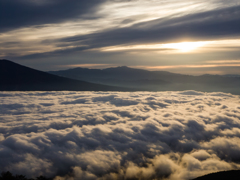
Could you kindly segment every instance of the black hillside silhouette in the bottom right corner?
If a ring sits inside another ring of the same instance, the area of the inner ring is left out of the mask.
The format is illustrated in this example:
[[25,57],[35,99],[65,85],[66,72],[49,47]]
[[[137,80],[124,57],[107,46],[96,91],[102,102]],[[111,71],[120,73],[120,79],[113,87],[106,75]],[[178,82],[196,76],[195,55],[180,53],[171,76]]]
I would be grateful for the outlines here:
[[239,180],[240,179],[240,170],[232,170],[232,171],[221,171],[217,173],[207,174],[205,176],[201,176],[195,178],[193,180]]

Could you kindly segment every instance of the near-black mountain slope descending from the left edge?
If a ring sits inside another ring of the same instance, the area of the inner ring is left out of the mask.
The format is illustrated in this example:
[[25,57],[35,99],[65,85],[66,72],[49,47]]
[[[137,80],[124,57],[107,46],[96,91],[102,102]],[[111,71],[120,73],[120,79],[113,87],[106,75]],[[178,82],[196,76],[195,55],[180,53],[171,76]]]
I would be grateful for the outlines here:
[[0,60],[0,91],[126,91],[38,71],[9,60]]

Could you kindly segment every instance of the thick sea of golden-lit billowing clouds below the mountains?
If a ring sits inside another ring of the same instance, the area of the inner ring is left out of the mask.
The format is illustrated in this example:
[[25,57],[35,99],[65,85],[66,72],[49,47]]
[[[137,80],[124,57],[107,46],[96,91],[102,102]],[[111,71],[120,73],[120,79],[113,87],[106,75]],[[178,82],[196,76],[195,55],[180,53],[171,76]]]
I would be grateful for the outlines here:
[[0,92],[0,169],[56,180],[186,180],[240,169],[240,96]]

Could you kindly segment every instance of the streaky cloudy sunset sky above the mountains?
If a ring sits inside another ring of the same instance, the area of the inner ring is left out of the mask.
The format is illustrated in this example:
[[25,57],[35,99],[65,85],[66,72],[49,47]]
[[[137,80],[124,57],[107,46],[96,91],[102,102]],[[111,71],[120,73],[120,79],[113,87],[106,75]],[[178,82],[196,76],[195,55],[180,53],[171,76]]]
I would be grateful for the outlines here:
[[0,59],[240,74],[239,0],[0,0]]

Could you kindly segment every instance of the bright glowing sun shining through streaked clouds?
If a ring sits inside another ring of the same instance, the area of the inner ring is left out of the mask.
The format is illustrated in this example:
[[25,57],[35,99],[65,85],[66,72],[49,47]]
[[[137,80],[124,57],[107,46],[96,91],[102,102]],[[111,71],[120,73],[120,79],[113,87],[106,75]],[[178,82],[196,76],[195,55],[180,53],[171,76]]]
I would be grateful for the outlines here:
[[164,48],[170,48],[170,49],[177,49],[181,52],[190,52],[193,51],[199,47],[202,47],[206,45],[207,42],[181,42],[181,43],[170,43],[170,44],[164,44]]

